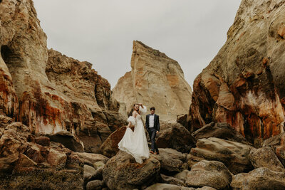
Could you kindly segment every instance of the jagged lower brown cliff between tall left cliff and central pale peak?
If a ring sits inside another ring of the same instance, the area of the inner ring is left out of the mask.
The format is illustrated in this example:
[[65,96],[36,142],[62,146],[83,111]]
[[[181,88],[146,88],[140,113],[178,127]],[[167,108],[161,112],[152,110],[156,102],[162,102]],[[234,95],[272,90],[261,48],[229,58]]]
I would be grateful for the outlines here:
[[46,74],[61,97],[70,102],[71,107],[66,107],[70,110],[63,110],[68,114],[63,123],[66,130],[76,134],[86,152],[100,152],[100,144],[127,122],[118,113],[119,103],[112,96],[110,83],[91,66],[49,50]]

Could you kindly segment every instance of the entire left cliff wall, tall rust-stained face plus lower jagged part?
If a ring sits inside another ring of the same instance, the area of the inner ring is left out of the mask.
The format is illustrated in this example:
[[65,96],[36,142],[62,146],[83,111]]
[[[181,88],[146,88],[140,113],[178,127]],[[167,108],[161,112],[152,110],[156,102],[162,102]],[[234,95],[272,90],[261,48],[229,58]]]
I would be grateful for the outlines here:
[[88,152],[118,127],[110,84],[91,64],[46,47],[33,1],[0,2],[0,110],[33,134],[68,131]]

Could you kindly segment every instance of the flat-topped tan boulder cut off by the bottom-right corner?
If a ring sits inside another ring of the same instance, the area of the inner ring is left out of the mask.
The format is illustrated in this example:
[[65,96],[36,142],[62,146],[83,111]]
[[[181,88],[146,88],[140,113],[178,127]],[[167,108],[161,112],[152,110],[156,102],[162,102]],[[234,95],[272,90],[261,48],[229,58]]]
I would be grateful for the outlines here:
[[285,173],[261,167],[232,177],[232,189],[285,189]]

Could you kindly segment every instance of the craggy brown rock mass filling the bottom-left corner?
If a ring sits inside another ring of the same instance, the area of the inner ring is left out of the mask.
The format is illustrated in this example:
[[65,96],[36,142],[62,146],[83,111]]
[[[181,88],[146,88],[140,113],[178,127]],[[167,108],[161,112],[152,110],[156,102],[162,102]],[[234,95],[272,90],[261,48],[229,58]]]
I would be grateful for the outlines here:
[[36,144],[21,122],[0,121],[0,189],[83,189],[83,163],[62,144]]

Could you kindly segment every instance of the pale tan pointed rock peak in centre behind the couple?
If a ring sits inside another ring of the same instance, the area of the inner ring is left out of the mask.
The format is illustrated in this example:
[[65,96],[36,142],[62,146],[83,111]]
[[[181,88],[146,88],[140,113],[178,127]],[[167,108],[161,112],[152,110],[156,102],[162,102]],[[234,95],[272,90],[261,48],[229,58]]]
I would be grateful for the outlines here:
[[160,120],[176,120],[189,110],[192,90],[177,61],[140,41],[133,42],[132,70],[118,80],[113,95],[130,111],[133,103],[154,106]]

